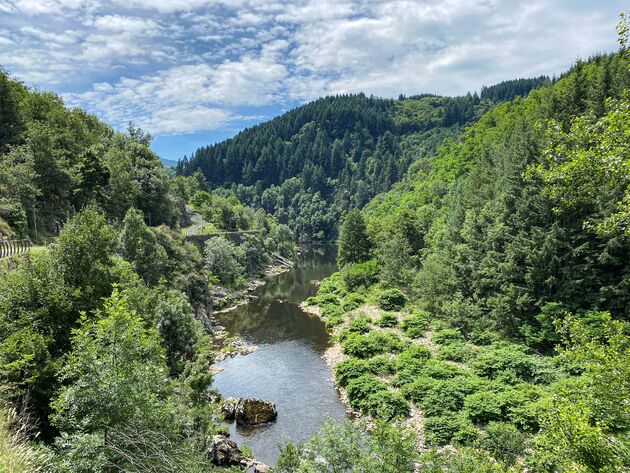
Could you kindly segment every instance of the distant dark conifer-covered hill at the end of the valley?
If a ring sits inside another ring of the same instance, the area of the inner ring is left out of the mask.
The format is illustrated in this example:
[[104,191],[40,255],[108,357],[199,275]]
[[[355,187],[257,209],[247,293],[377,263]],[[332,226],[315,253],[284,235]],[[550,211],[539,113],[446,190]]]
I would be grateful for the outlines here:
[[414,160],[434,153],[490,107],[470,94],[326,97],[201,148],[176,169],[200,170],[211,187],[233,189],[302,240],[324,240],[345,210],[389,190]]

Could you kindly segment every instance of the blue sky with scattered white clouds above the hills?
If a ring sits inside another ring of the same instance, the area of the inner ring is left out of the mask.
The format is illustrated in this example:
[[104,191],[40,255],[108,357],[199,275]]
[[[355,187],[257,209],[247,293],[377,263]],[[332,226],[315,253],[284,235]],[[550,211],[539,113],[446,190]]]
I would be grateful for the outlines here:
[[617,0],[0,0],[0,65],[166,159],[314,98],[461,95],[617,49]]

